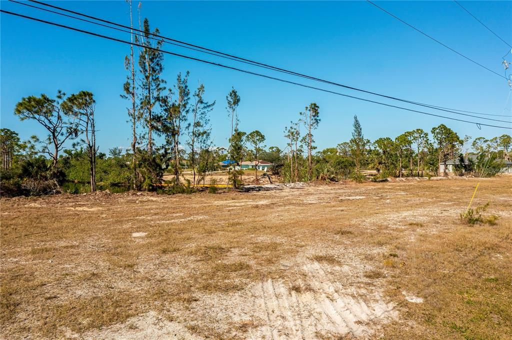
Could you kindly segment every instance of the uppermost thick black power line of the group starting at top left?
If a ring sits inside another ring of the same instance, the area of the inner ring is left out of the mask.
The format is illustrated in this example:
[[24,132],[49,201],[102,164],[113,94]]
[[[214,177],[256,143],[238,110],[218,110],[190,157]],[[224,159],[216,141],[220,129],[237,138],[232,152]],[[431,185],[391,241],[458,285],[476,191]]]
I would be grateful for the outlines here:
[[[99,24],[98,22],[94,22],[94,21],[78,18],[78,17],[75,17],[75,16],[70,16],[70,15],[59,13],[59,12],[55,12],[55,11],[50,11],[50,10],[47,10],[47,9],[44,9],[44,8],[39,8],[39,7],[36,7],[36,6],[20,3],[20,2],[14,1],[14,0],[10,0],[10,1],[15,2],[17,4],[21,4],[21,5],[26,5],[26,6],[30,6],[30,7],[33,7],[33,8],[37,8],[37,9],[40,9],[40,10],[49,11],[49,12],[56,13],[56,14],[59,14],[59,15],[75,18],[75,19],[78,19],[78,20],[82,20],[82,21],[86,21],[86,22],[91,22],[92,24],[96,24],[96,25],[99,25],[99,26],[112,28],[112,29],[115,29],[115,30],[118,30],[118,31],[122,31],[122,32],[126,32],[126,33],[131,33],[131,31],[120,30],[120,29],[115,28],[115,27],[110,27],[110,26],[106,26],[106,25],[103,25],[103,24]],[[40,4],[40,5],[43,5],[43,6],[48,6],[48,7],[51,7],[51,8],[54,8],[54,9],[58,9],[58,10],[61,10],[61,11],[65,11],[65,12],[77,14],[77,15],[80,15],[80,16],[88,17],[88,18],[91,18],[91,19],[94,19],[94,20],[98,20],[98,21],[101,21],[101,22],[105,22],[105,23],[110,24],[110,25],[115,25],[115,26],[122,27],[122,28],[129,29],[129,30],[133,29],[133,30],[141,32],[141,33],[146,33],[146,32],[144,32],[144,31],[142,31],[140,29],[131,28],[129,26],[118,24],[118,23],[110,21],[110,20],[101,19],[101,18],[92,16],[92,15],[87,15],[87,14],[83,14],[83,13],[80,13],[80,12],[72,11],[72,10],[69,10],[69,9],[66,9],[66,8],[62,8],[62,7],[58,7],[58,6],[54,6],[54,5],[50,5],[50,4],[45,4],[45,3],[42,3],[42,2],[39,2],[39,1],[36,1],[36,0],[30,0],[30,1],[33,2],[33,3],[37,3],[37,4]],[[137,33],[135,33],[135,34],[137,34]],[[332,82],[332,81],[329,81],[329,80],[308,76],[308,75],[305,75],[305,74],[302,74],[302,73],[297,73],[297,72],[293,72],[293,71],[290,71],[290,70],[281,69],[280,67],[268,65],[268,64],[257,62],[257,61],[254,61],[254,60],[250,60],[250,59],[246,59],[246,58],[242,58],[242,57],[237,57],[237,56],[234,56],[234,55],[231,55],[231,54],[227,54],[227,53],[224,53],[224,52],[208,49],[208,48],[201,47],[201,46],[198,46],[198,45],[195,45],[195,44],[191,44],[191,43],[188,43],[188,42],[184,42],[184,41],[181,41],[181,40],[176,40],[176,39],[173,39],[173,38],[165,37],[165,36],[162,36],[162,35],[159,35],[159,34],[155,34],[155,33],[149,33],[149,34],[153,35],[153,36],[155,36],[157,38],[160,38],[160,39],[168,40],[168,41],[170,41],[168,43],[173,44],[173,45],[178,46],[178,47],[182,47],[182,48],[186,48],[186,49],[190,49],[190,50],[206,53],[206,54],[209,54],[209,55],[214,55],[214,56],[226,58],[226,59],[229,59],[229,60],[234,60],[234,61],[250,64],[250,65],[253,65],[253,66],[263,67],[265,69],[269,69],[269,70],[273,70],[273,71],[277,71],[277,72],[281,72],[281,73],[285,73],[285,74],[289,74],[289,75],[293,75],[293,76],[298,76],[298,77],[302,77],[302,78],[306,78],[306,79],[310,79],[310,80],[319,81],[319,82],[327,83],[327,84],[330,84],[330,85],[344,87],[344,88],[356,90],[358,92],[371,94],[371,95],[374,95],[374,96],[379,96],[379,97],[383,97],[383,98],[387,98],[387,99],[397,100],[397,101],[401,101],[401,102],[405,102],[405,103],[409,103],[409,104],[414,104],[414,105],[418,105],[418,106],[428,107],[428,108],[432,108],[432,109],[439,110],[439,111],[450,112],[450,113],[456,114],[456,115],[463,115],[463,114],[460,114],[459,112],[465,112],[465,113],[468,113],[468,114],[475,114],[475,115],[482,115],[482,116],[509,117],[507,115],[487,114],[487,113],[482,113],[482,112],[473,112],[473,111],[452,109],[452,108],[448,108],[448,107],[436,106],[436,105],[431,105],[431,104],[424,104],[424,103],[420,103],[420,102],[416,102],[416,101],[410,101],[410,100],[401,99],[401,98],[397,98],[397,97],[382,95],[382,94],[379,94],[379,93],[375,93],[375,92],[371,92],[371,91],[368,91],[368,90],[356,88],[356,87],[353,87],[353,86],[348,86],[348,85]],[[138,34],[138,35],[140,35],[140,34]],[[454,111],[458,111],[458,112],[454,112]],[[479,119],[486,119],[486,118],[477,117],[477,116],[471,116],[471,115],[463,115],[463,116],[474,117],[474,118],[479,118]],[[489,119],[489,120],[493,120],[493,119]],[[495,121],[500,121],[500,120],[495,120]],[[508,123],[508,121],[501,121],[501,122]]]

